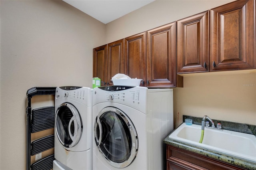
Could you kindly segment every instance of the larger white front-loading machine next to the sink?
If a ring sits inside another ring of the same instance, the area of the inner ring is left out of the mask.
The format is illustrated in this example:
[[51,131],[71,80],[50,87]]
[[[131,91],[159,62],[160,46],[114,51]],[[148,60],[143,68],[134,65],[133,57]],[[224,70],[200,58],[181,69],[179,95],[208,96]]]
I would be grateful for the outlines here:
[[164,169],[172,89],[96,87],[92,105],[93,170]]

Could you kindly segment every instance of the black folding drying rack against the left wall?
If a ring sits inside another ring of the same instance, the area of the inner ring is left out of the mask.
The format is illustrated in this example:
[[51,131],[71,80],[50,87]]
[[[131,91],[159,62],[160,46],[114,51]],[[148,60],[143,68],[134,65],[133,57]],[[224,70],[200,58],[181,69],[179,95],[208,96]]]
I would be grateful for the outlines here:
[[27,113],[27,170],[50,170],[54,161],[54,154],[42,158],[31,164],[31,156],[54,148],[54,134],[31,142],[31,133],[54,128],[54,106],[31,108],[31,99],[36,95],[55,95],[56,87],[33,87],[28,89]]

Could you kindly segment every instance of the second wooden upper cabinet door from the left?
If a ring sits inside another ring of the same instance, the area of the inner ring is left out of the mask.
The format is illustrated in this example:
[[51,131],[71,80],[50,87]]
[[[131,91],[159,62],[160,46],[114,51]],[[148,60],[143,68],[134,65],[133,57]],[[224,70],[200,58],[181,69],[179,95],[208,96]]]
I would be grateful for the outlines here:
[[108,83],[113,85],[110,81],[117,73],[124,73],[124,39],[118,40],[108,44]]

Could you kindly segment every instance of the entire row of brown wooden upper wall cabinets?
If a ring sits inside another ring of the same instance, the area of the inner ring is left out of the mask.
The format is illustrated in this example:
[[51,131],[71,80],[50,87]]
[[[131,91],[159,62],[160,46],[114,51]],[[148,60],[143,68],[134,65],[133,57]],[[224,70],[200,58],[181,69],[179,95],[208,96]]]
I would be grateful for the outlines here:
[[183,87],[180,73],[255,69],[255,3],[237,0],[97,47],[93,77],[113,85],[124,73],[140,86],[169,88]]

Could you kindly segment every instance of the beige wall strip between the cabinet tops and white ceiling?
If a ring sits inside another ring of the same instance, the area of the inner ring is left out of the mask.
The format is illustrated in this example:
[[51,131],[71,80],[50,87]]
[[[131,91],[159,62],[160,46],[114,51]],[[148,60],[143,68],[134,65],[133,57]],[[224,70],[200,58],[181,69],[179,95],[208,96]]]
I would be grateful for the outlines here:
[[234,0],[155,0],[106,26],[107,43],[204,12]]

